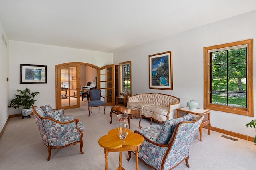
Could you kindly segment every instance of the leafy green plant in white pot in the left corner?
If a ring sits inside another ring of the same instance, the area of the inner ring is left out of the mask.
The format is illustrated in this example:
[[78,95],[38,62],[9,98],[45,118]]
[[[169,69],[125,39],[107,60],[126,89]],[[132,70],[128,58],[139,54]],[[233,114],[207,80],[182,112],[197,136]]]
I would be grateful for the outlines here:
[[39,94],[39,92],[32,92],[29,88],[25,88],[25,90],[19,90],[17,89],[17,92],[20,94],[15,94],[16,98],[12,99],[8,108],[13,109],[21,109],[22,119],[24,117],[30,118],[30,114],[32,112],[31,106],[34,105],[36,102],[36,99],[34,99],[35,96]]

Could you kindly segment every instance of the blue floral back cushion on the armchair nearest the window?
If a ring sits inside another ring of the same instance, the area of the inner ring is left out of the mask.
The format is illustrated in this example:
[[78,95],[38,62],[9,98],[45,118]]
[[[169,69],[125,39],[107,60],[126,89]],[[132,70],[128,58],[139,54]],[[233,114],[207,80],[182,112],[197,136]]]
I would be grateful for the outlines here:
[[162,130],[156,142],[159,144],[168,144],[168,142],[171,140],[171,137],[174,132],[174,129],[176,128],[176,125],[178,125],[178,123],[180,122],[191,121],[191,120],[192,120],[192,116],[190,114],[187,114],[177,119],[164,121]]

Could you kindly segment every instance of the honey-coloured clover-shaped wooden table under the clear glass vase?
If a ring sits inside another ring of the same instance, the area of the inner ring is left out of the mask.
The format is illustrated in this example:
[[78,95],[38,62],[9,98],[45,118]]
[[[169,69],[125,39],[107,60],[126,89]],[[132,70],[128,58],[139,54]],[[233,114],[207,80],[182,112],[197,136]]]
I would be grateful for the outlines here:
[[140,145],[143,143],[144,138],[138,134],[128,131],[126,139],[120,139],[117,128],[108,132],[108,135],[104,135],[99,139],[99,145],[104,148],[105,153],[105,170],[108,170],[108,153],[119,152],[119,167],[117,170],[125,170],[122,166],[122,151],[135,151],[136,156],[136,170],[138,166],[138,155]]

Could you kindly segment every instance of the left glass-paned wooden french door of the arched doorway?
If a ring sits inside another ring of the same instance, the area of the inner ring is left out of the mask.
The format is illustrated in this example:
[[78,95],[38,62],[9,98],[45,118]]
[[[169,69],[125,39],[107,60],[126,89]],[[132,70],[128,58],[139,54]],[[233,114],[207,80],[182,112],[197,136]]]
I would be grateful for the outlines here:
[[56,108],[80,107],[80,64],[56,66]]

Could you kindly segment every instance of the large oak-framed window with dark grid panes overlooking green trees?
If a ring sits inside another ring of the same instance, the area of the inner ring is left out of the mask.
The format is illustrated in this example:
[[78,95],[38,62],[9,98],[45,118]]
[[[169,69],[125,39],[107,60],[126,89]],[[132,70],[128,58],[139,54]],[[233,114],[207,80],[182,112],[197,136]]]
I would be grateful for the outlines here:
[[204,108],[253,117],[253,39],[204,47]]

